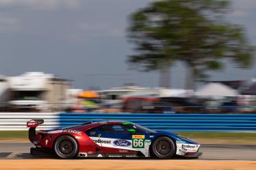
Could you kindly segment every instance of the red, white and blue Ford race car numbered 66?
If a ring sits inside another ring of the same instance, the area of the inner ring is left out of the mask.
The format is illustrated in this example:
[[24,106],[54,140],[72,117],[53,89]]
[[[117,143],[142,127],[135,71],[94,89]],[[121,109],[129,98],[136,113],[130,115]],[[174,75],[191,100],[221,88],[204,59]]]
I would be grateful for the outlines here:
[[30,154],[55,153],[60,158],[85,157],[151,157],[198,158],[200,144],[172,132],[150,130],[138,124],[122,121],[85,122],[68,128],[39,130],[42,119],[27,122]]

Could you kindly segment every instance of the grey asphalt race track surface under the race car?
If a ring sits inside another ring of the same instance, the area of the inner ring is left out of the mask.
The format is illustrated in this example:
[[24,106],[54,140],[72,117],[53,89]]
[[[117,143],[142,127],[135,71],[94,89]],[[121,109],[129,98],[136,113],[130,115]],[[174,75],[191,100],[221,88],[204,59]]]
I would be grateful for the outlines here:
[[[0,142],[0,159],[55,159],[51,154],[31,156],[31,143]],[[199,160],[256,160],[256,145],[201,145]]]

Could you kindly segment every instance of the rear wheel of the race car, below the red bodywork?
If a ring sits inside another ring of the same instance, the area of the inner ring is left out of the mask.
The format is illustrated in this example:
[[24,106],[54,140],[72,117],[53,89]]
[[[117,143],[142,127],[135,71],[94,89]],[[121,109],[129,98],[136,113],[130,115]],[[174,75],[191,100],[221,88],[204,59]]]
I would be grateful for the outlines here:
[[68,135],[58,137],[53,145],[55,154],[60,158],[71,159],[77,157],[77,141]]

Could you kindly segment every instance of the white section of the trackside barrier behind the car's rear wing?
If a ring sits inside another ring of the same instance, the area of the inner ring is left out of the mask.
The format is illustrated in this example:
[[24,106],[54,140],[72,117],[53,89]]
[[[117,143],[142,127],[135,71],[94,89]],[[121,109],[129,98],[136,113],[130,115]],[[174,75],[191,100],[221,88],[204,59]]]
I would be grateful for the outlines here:
[[27,121],[44,119],[40,130],[59,127],[60,113],[0,113],[0,130],[28,130]]

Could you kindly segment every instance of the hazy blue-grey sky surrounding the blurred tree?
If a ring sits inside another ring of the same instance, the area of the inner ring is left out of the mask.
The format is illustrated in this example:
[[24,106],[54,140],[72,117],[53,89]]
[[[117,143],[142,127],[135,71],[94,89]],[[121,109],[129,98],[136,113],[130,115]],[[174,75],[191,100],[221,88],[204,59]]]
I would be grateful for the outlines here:
[[[159,85],[158,72],[137,72],[127,64],[129,15],[153,0],[0,0],[0,74],[52,73],[74,88],[107,89],[135,83]],[[228,20],[243,25],[256,45],[255,0],[232,0]],[[210,80],[251,80],[255,66],[241,70],[227,61]],[[185,67],[170,69],[173,88],[185,87]]]

